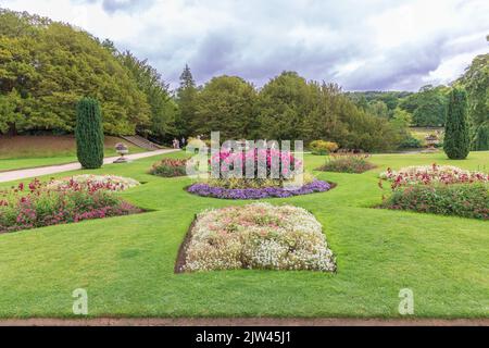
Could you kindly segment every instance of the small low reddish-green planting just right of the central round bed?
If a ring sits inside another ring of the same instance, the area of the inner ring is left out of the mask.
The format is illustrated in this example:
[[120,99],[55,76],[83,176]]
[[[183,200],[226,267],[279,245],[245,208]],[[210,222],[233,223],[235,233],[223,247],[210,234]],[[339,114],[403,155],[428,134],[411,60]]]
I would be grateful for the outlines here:
[[368,158],[369,156],[366,153],[334,153],[318,170],[361,174],[376,167],[375,164],[367,161]]

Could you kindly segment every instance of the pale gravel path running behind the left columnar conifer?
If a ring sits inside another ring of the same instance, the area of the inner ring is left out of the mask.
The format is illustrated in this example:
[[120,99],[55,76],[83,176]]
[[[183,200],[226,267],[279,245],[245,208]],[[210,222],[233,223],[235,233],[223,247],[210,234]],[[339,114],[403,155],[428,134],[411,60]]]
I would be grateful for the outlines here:
[[[138,160],[138,159],[143,159],[147,157],[170,153],[170,152],[175,152],[175,151],[179,151],[179,150],[162,149],[162,150],[155,150],[155,151],[127,154],[126,158],[128,160]],[[116,159],[118,159],[118,156],[104,158],[103,164],[112,163]],[[74,162],[74,163],[67,163],[67,164],[59,164],[59,165],[40,166],[40,167],[32,167],[32,169],[17,170],[17,171],[1,172],[0,173],[0,183],[17,181],[17,179],[23,179],[23,178],[27,178],[27,177],[35,177],[35,176],[41,176],[41,175],[76,171],[76,170],[80,170],[80,169],[82,169],[82,165],[78,162]]]

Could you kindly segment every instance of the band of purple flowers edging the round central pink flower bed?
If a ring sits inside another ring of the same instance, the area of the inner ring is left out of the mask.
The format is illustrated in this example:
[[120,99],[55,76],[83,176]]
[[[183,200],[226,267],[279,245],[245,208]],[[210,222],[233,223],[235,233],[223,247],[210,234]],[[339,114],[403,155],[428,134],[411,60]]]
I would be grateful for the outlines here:
[[300,195],[309,195],[314,192],[324,192],[331,189],[329,183],[323,181],[314,181],[298,189],[284,189],[281,187],[263,187],[263,188],[223,188],[209,186],[208,184],[193,184],[187,188],[190,194],[214,197],[222,199],[261,199],[271,197],[292,197]]

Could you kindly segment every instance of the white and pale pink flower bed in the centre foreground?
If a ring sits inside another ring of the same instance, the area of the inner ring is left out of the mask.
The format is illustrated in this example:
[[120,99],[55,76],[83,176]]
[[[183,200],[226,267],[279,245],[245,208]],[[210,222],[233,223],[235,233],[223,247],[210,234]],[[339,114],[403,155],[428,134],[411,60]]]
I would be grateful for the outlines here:
[[292,206],[251,203],[197,216],[181,271],[336,270],[323,228]]

